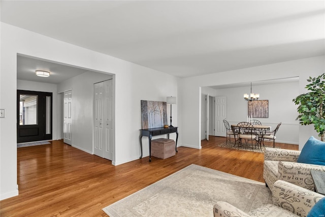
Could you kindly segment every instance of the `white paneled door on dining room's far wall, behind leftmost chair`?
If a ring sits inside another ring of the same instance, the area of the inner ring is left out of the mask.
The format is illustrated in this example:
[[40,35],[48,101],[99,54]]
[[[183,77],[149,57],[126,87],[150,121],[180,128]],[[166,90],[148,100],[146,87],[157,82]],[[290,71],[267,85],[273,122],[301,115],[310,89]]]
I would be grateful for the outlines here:
[[226,97],[215,98],[215,136],[226,136],[223,119],[226,119],[227,99]]

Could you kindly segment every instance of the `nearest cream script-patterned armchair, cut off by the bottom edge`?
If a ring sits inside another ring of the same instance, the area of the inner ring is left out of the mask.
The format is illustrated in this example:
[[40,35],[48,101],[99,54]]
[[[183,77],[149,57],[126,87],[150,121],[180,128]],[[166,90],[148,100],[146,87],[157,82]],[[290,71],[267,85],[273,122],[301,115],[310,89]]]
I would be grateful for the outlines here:
[[[266,204],[259,208],[245,213],[233,205],[218,201],[213,207],[214,217],[247,217],[247,216],[264,216],[264,217],[281,217],[281,216],[307,216],[310,212],[313,213],[315,208],[321,213],[323,212],[324,195],[309,191],[295,184],[286,181],[278,180],[273,185],[272,191],[273,204]],[[314,206],[317,202],[319,203]],[[311,211],[312,207],[314,210]],[[311,214],[314,216],[314,213]]]

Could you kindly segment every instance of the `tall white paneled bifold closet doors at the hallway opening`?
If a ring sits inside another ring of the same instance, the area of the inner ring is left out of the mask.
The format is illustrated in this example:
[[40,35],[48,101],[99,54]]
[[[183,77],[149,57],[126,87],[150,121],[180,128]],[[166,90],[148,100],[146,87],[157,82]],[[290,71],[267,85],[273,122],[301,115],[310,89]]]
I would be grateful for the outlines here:
[[112,80],[94,84],[94,154],[109,160],[112,151]]

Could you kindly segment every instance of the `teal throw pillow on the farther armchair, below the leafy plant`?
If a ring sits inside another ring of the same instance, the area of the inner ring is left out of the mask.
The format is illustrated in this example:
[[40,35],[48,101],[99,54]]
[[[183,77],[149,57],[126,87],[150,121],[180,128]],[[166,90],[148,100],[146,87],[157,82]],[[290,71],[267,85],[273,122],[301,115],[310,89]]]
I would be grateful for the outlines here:
[[301,150],[297,162],[325,166],[325,142],[311,136]]

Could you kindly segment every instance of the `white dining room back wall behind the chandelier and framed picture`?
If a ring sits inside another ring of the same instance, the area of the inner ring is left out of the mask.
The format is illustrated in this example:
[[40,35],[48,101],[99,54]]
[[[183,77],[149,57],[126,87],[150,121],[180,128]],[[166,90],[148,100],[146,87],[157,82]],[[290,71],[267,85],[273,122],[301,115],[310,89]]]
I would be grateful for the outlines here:
[[[230,124],[247,120],[248,102],[243,99],[243,95],[250,92],[250,84],[247,84],[246,87],[215,90],[215,96],[227,98],[226,118]],[[265,85],[252,84],[252,92],[259,93],[259,100],[269,101],[269,117],[253,119],[271,126],[272,130],[282,122],[276,135],[277,142],[299,144],[299,121],[296,120],[298,112],[292,101],[299,95],[299,80]]]

